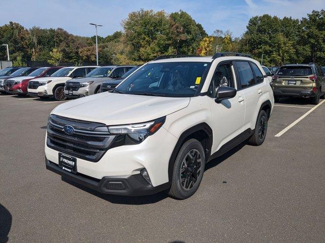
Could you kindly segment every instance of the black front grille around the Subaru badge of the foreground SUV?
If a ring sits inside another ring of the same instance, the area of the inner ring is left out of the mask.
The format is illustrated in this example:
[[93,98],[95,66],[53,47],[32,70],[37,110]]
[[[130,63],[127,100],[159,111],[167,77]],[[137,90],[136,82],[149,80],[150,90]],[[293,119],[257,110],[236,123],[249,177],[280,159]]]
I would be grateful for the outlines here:
[[[64,132],[71,125],[72,135]],[[47,125],[47,146],[62,153],[97,162],[112,147],[120,145],[119,136],[110,135],[105,124],[50,115]]]

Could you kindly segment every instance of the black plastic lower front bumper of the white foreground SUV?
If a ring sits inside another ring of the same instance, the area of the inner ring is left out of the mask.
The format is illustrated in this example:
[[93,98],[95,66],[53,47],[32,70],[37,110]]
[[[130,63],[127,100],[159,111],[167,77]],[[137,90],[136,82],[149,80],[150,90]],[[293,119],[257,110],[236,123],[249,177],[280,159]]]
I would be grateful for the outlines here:
[[61,175],[62,178],[66,178],[105,194],[141,196],[154,194],[170,187],[169,183],[153,187],[141,176],[141,174],[127,176],[105,176],[99,180],[84,176],[80,173],[73,174],[64,171],[59,168],[57,164],[52,163],[48,159],[46,159],[45,164],[46,169]]

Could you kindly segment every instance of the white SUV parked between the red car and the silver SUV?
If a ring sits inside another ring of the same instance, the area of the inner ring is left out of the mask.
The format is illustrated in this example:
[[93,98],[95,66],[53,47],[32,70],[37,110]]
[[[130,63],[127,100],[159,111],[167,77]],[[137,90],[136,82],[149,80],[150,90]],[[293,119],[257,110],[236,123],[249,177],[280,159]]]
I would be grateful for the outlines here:
[[98,66],[63,67],[49,77],[31,79],[28,82],[28,95],[31,97],[53,97],[56,100],[67,99],[64,96],[64,85],[67,80],[84,77]]

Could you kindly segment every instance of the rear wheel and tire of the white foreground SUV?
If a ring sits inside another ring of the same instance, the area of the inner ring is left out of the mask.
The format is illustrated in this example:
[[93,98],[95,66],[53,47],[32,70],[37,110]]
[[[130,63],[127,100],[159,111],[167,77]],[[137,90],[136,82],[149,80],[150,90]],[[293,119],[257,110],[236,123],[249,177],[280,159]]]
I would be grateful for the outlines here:
[[254,134],[248,139],[248,144],[253,146],[261,145],[266,137],[268,130],[268,115],[261,110],[257,116]]

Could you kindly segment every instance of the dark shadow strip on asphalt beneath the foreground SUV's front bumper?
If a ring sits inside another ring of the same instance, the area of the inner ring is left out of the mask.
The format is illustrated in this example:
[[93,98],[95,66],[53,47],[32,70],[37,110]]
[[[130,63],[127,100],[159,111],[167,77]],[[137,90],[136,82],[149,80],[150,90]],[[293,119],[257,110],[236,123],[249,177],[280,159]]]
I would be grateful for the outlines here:
[[118,195],[107,195],[102,194],[100,192],[94,191],[87,187],[84,187],[78,183],[75,183],[67,178],[61,177],[61,180],[69,183],[83,191],[86,191],[94,196],[100,197],[104,200],[109,201],[112,204],[125,204],[125,205],[146,205],[146,204],[154,204],[160,200],[163,200],[168,197],[168,195],[163,191],[153,195],[146,196],[118,196]]

